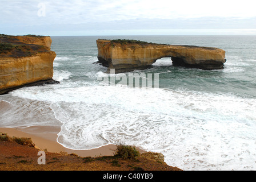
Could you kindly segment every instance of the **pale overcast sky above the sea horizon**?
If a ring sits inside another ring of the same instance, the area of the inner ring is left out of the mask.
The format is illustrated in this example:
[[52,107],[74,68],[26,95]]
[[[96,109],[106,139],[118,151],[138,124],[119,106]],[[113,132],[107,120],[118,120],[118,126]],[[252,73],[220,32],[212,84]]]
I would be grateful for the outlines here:
[[256,35],[251,0],[0,0],[0,34]]

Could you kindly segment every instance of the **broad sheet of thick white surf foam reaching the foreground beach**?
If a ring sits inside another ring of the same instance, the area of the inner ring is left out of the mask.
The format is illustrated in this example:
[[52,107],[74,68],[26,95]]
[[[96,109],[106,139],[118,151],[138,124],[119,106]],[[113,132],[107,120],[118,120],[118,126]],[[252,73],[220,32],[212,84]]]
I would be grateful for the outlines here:
[[182,169],[255,169],[249,161],[256,160],[255,99],[126,86],[13,94],[50,102],[62,122],[58,142],[67,148],[123,142],[162,152],[167,164]]

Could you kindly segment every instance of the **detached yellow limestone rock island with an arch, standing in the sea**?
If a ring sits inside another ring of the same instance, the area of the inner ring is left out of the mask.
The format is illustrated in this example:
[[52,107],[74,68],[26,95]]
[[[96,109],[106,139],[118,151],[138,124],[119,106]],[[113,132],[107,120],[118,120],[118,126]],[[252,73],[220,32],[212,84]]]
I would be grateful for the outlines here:
[[223,69],[225,51],[211,47],[171,46],[145,42],[97,40],[98,63],[102,63],[115,73],[146,69],[162,57],[171,57],[173,65]]

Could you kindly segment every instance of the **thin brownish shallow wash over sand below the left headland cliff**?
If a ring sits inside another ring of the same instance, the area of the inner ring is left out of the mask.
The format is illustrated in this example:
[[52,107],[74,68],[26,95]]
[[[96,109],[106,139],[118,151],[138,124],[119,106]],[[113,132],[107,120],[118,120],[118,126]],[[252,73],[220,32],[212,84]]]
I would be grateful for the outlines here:
[[[16,92],[22,94],[23,89],[25,88],[16,90]],[[0,107],[1,127],[59,126],[49,103],[10,96],[9,94],[3,96],[6,104]]]

